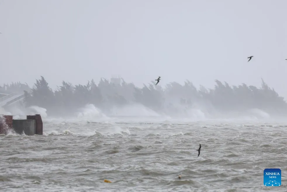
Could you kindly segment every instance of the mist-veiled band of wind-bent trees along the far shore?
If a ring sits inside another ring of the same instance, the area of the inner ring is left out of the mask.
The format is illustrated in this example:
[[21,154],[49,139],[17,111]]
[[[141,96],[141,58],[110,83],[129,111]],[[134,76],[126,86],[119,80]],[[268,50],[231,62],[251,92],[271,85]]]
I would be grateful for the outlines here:
[[[102,78],[98,84],[91,80],[86,85],[75,86],[63,81],[62,85],[53,91],[41,76],[32,89],[26,84],[17,83],[0,87],[0,93],[24,89],[25,98],[22,105],[25,108],[45,108],[49,116],[73,115],[89,104],[107,115],[137,115],[141,114],[141,110],[151,116],[187,118],[194,114],[236,116],[254,110],[272,115],[284,115],[287,112],[284,98],[263,79],[260,88],[246,84],[231,86],[218,80],[215,80],[213,89],[203,86],[197,89],[190,81],[186,81],[184,85],[172,82],[155,86],[153,83],[138,88],[119,78],[112,78],[111,81]],[[131,109],[134,112],[131,112]]]

